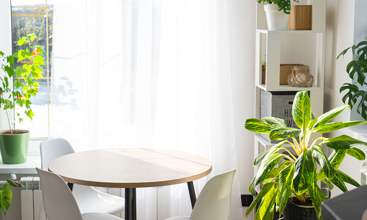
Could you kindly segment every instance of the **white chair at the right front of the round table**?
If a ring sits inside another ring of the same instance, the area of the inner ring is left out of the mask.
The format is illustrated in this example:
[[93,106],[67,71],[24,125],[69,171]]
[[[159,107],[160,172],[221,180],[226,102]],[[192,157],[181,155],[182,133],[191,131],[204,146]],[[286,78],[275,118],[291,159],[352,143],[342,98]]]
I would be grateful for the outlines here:
[[235,173],[236,169],[233,169],[207,181],[192,209],[191,217],[173,217],[169,220],[227,220],[231,210],[231,191]]

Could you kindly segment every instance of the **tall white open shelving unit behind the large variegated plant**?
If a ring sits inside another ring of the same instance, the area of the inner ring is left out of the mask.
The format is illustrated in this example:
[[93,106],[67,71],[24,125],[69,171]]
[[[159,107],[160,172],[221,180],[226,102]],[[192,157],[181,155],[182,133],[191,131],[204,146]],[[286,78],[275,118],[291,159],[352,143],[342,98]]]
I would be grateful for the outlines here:
[[[302,1],[301,4],[306,4]],[[312,2],[312,30],[268,31],[264,6],[257,4],[257,30],[255,53],[255,118],[260,118],[260,91],[302,91],[310,94],[312,113],[315,117],[323,113],[324,69],[325,69],[325,14],[326,0]],[[266,56],[265,56],[266,55]],[[262,84],[260,61],[266,60],[266,83]],[[314,76],[312,87],[290,87],[279,85],[280,64],[306,64]],[[319,135],[318,137],[320,137]],[[255,135],[254,156],[274,146],[259,135]],[[285,145],[291,148],[289,145]],[[257,167],[254,169],[254,174]],[[257,187],[259,190],[260,187]]]

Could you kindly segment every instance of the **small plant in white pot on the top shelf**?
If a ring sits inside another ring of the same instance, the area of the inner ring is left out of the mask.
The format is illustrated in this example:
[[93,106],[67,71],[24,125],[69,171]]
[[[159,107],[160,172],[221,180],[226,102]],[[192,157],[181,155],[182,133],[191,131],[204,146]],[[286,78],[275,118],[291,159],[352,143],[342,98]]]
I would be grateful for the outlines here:
[[[291,0],[256,0],[264,4],[269,31],[286,31],[288,29]],[[299,3],[299,0],[293,0]]]

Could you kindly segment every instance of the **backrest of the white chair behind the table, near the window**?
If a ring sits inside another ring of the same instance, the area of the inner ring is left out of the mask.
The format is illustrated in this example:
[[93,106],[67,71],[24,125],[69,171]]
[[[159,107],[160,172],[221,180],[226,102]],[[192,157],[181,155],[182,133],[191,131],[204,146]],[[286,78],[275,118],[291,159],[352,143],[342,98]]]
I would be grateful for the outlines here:
[[49,163],[53,161],[53,159],[57,159],[66,154],[73,154],[75,150],[66,139],[54,138],[40,143],[40,153],[41,168],[49,170]]

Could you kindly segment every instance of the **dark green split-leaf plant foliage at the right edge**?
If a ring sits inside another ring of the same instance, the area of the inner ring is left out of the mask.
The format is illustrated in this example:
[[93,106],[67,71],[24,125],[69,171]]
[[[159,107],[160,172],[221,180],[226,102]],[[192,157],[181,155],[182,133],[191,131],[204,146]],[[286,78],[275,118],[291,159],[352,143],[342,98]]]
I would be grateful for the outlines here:
[[340,87],[340,93],[346,90],[346,94],[343,96],[342,101],[346,104],[355,107],[357,105],[357,113],[367,120],[367,92],[359,88],[356,84],[359,84],[361,87],[367,85],[365,71],[367,70],[367,41],[359,42],[357,45],[353,45],[338,55],[336,59],[339,59],[340,56],[344,56],[346,52],[352,49],[353,55],[357,55],[357,60],[352,60],[346,65],[346,72],[349,74],[349,77],[353,80],[355,74],[357,74],[357,81],[355,83],[344,83],[342,87]]

